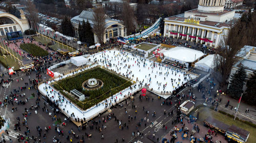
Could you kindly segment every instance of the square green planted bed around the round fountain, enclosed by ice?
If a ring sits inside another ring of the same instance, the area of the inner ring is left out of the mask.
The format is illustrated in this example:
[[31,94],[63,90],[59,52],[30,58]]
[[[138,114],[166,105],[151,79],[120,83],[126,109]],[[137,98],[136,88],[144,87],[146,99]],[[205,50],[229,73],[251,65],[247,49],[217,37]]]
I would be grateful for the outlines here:
[[[89,78],[96,78],[102,80],[103,87],[98,90],[83,90],[82,83]],[[131,81],[126,80],[114,73],[111,73],[108,70],[95,67],[74,76],[59,80],[57,81],[57,84],[54,84],[53,86],[71,101],[75,102],[79,107],[83,109],[88,109],[96,103],[105,100],[106,98],[122,91],[130,85],[132,85]],[[73,89],[76,89],[82,94],[89,96],[89,98],[85,99],[82,103],[63,91],[65,90],[67,92],[70,92]]]

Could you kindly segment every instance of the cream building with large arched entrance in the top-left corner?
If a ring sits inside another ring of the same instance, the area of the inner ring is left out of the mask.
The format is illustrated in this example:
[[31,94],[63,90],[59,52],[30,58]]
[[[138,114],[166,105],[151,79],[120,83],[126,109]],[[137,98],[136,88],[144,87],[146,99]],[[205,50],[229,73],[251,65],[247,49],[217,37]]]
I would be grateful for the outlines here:
[[29,22],[25,17],[23,10],[20,10],[21,19],[16,16],[0,11],[0,35],[4,36],[9,32],[17,32],[29,29]]

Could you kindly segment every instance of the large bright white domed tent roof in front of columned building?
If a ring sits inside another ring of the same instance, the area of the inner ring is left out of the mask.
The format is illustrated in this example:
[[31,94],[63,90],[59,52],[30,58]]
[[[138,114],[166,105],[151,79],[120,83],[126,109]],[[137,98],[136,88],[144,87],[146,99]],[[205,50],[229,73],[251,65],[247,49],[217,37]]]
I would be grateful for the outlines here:
[[176,59],[186,63],[193,63],[204,55],[201,51],[185,47],[175,47],[163,52],[163,54],[170,59]]

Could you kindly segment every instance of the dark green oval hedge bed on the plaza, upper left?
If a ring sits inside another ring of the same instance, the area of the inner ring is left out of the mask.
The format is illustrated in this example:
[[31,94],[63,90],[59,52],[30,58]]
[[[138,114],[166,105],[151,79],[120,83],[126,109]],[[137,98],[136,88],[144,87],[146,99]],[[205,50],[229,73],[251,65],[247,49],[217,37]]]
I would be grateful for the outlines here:
[[28,53],[31,53],[33,56],[46,56],[48,55],[48,51],[42,49],[41,47],[28,43],[28,44],[21,44],[20,48],[25,50]]

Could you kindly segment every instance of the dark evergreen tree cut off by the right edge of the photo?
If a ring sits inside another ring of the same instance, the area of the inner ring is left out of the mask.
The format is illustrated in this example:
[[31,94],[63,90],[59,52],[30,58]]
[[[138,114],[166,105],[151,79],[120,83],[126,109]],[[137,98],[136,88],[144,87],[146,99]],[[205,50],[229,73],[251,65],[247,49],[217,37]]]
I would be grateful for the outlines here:
[[246,103],[255,105],[256,103],[256,70],[253,71],[253,75],[249,78],[249,80],[246,83],[246,93],[244,94],[243,100],[246,101]]

